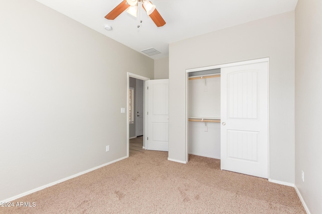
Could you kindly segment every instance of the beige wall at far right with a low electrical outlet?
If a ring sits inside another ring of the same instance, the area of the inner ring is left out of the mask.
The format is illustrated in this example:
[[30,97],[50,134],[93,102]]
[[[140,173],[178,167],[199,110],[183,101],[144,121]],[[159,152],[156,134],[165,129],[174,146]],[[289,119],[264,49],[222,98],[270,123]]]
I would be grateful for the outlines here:
[[295,10],[295,185],[310,213],[322,213],[321,10],[320,0]]

